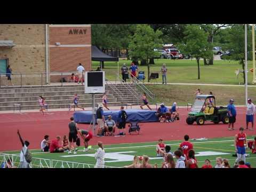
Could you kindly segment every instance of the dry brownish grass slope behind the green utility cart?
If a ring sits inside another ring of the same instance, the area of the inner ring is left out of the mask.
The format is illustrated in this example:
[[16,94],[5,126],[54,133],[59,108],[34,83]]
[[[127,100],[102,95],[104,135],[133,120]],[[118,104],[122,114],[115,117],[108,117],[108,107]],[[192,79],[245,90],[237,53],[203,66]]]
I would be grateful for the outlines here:
[[[244,87],[232,86],[195,86],[195,85],[147,85],[148,89],[156,94],[158,103],[164,102],[172,105],[177,102],[179,106],[186,106],[187,103],[194,103],[196,89],[201,89],[203,94],[213,92],[216,105],[227,105],[230,98],[235,99],[235,105],[245,105]],[[248,87],[248,97],[256,100],[256,89]]]

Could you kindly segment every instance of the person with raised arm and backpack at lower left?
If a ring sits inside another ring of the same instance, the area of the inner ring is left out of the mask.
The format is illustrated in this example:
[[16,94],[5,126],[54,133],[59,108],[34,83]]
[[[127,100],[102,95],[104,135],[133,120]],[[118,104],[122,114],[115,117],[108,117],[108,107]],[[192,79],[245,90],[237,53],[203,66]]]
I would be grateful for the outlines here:
[[[23,141],[23,139],[21,138],[20,132],[19,130],[17,131],[21,145],[22,145],[22,149],[20,151],[20,168],[30,168],[29,163],[32,161],[32,157],[31,157],[31,153],[28,149],[29,146],[29,142],[28,141]],[[29,160],[29,162],[28,162]]]

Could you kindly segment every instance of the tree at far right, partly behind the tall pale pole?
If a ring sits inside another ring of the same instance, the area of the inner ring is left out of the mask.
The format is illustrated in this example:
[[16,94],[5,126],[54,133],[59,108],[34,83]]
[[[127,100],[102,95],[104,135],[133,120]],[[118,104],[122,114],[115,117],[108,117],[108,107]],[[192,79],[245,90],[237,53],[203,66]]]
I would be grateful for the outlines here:
[[[247,59],[251,60],[252,59],[252,36],[251,33],[251,26],[247,25]],[[228,42],[225,45],[226,50],[231,50],[231,55],[226,56],[226,59],[231,59],[231,60],[236,60],[239,62],[239,64],[242,65],[243,68],[243,78],[244,78],[244,83],[245,83],[245,65],[244,65],[244,60],[245,60],[245,45],[244,45],[244,25],[233,25],[231,29],[228,31],[229,33],[227,34],[227,39]]]

